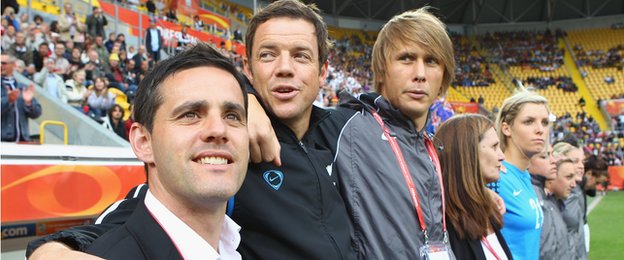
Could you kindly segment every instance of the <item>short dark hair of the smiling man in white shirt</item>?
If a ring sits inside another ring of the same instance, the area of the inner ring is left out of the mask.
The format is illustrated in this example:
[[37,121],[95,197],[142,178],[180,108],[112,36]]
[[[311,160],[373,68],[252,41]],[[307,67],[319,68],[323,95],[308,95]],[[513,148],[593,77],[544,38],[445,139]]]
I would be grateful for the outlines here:
[[144,125],[151,133],[154,127],[154,115],[163,102],[163,93],[159,91],[162,83],[175,73],[198,67],[215,67],[232,74],[243,92],[245,111],[247,110],[247,91],[243,74],[220,51],[200,42],[172,58],[159,62],[141,80],[134,99],[135,122]]

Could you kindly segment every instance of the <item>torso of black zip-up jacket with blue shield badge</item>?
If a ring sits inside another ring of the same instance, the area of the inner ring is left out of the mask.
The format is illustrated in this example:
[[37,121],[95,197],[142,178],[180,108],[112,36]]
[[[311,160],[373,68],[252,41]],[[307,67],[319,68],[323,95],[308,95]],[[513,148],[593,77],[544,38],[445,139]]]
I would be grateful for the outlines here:
[[272,119],[282,166],[250,164],[232,218],[242,227],[244,259],[353,259],[352,227],[331,174],[336,111],[313,108],[302,140]]

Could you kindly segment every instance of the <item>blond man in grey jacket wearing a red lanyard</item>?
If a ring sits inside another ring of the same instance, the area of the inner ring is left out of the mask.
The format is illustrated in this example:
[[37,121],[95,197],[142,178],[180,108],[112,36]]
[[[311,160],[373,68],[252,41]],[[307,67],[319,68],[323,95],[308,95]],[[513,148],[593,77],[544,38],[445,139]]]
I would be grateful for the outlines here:
[[425,125],[454,69],[444,23],[427,8],[407,11],[386,23],[373,47],[381,96],[343,95],[360,113],[342,129],[334,163],[359,258],[419,259],[434,245],[451,253],[436,149]]

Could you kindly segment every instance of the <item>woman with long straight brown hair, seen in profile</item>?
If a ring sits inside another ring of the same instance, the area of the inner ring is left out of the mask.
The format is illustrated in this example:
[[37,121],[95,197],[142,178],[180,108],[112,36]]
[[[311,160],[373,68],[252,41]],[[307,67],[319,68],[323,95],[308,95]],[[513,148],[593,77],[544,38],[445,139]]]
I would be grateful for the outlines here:
[[457,259],[512,259],[500,233],[502,215],[487,183],[499,178],[505,155],[494,123],[465,114],[444,122],[436,133],[444,183],[449,242]]

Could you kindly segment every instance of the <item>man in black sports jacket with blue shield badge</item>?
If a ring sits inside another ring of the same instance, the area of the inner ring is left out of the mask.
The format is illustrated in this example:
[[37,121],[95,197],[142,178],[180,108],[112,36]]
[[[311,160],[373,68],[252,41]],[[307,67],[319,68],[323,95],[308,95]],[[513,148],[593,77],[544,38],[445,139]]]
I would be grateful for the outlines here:
[[[339,129],[341,118],[312,106],[327,74],[325,24],[315,7],[282,0],[256,14],[247,32],[245,73],[269,112],[283,164],[249,165],[231,208],[232,218],[242,227],[239,252],[244,259],[353,259],[352,228],[336,188],[338,180],[331,174],[333,149],[325,141],[330,131],[324,130]],[[252,160],[273,158],[254,158],[252,152]],[[74,228],[35,241],[27,255],[52,240],[84,251],[111,225],[125,222],[136,201],[127,200],[119,206],[125,210],[100,216],[97,223],[105,225]],[[46,257],[68,253],[76,252],[59,243],[37,251]]]

